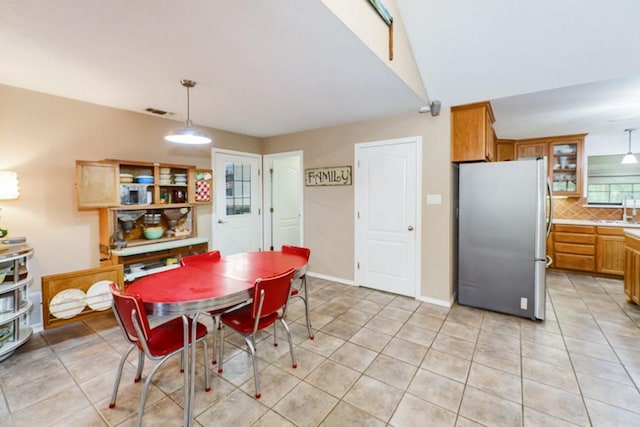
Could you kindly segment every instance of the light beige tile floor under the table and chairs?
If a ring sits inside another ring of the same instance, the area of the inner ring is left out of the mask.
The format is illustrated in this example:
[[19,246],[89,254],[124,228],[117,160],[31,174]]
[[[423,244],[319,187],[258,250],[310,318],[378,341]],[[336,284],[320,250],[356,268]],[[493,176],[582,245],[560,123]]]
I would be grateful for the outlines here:
[[[310,278],[316,339],[298,299],[288,316],[298,368],[284,336],[274,348],[264,334],[255,400],[243,341],[228,334],[209,393],[198,358],[196,425],[640,426],[640,309],[620,280],[550,272],[547,285],[540,322]],[[134,425],[133,364],[107,408],[126,348],[110,315],[35,335],[0,363],[0,425]],[[178,364],[158,372],[144,425],[182,424]]]

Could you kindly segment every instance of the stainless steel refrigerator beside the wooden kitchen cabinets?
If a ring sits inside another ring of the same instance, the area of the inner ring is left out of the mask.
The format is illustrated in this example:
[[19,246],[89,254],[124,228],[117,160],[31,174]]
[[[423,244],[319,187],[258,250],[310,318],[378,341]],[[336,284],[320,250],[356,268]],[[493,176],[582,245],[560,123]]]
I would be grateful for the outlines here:
[[546,165],[546,158],[460,165],[460,304],[544,319],[553,212]]

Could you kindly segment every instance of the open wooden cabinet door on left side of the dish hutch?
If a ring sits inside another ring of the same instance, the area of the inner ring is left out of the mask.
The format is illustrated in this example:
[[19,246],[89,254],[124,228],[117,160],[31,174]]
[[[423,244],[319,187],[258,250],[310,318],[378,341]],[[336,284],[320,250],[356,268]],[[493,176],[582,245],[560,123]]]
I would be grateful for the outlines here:
[[78,208],[104,208],[120,204],[118,166],[113,163],[76,161]]

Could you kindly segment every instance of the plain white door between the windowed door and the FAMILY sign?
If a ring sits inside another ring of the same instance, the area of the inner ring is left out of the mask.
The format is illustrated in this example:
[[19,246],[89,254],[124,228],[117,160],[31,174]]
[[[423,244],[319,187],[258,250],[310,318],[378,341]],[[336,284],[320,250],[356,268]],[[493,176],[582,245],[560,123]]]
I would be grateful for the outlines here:
[[263,164],[263,246],[302,246],[302,153],[267,155]]

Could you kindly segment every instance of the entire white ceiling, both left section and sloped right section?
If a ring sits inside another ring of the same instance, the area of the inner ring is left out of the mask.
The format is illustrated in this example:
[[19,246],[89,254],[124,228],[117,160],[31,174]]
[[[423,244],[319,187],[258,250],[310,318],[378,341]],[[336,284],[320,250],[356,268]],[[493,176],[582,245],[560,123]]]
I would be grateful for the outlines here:
[[[640,126],[637,2],[396,3],[429,98],[491,100],[499,137]],[[319,0],[5,0],[0,54],[0,84],[175,120],[192,79],[194,123],[259,137],[425,102]]]

